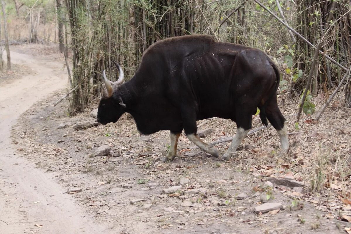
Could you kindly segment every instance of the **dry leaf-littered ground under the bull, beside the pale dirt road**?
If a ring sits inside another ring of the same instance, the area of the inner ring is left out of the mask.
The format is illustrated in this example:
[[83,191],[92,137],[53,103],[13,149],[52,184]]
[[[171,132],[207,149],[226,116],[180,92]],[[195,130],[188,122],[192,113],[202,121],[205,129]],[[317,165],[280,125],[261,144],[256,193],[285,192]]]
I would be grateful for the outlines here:
[[[74,198],[86,218],[107,225],[111,233],[346,233],[345,227],[351,227],[346,221],[351,216],[349,109],[328,108],[319,122],[304,115],[296,126],[298,100],[282,94],[289,156],[279,156],[278,137],[270,128],[248,136],[246,149],[230,162],[210,158],[182,135],[178,158],[160,163],[168,132],[140,135],[127,115],[115,124],[75,131],[75,123],[93,118],[90,111],[69,117],[67,100],[53,107],[63,94],[55,93],[22,114],[12,131],[13,143],[18,154],[62,189],[82,188],[66,198]],[[314,98],[317,110],[324,100],[322,94]],[[61,123],[67,126],[58,128]],[[253,126],[261,126],[258,116]],[[221,119],[201,128],[214,128],[206,142],[236,131],[235,124]],[[101,145],[110,146],[111,154],[94,156]],[[227,143],[216,147],[225,152]],[[274,177],[305,182],[306,187],[270,187],[266,181]],[[162,193],[183,182],[174,193]],[[190,189],[196,190],[189,194]],[[246,198],[237,200],[240,193]],[[142,200],[131,203],[137,199]],[[283,208],[255,214],[253,208],[263,202],[281,202]],[[36,231],[47,233],[44,227]]]

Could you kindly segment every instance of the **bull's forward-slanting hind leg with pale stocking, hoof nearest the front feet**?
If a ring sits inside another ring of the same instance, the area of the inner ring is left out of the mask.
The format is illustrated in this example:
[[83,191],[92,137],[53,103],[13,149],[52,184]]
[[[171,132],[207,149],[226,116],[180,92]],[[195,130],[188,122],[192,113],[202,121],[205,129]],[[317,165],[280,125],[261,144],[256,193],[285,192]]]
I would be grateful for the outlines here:
[[250,111],[250,108],[237,106],[236,110],[236,123],[238,127],[237,133],[233,137],[232,143],[229,146],[227,152],[222,156],[222,161],[229,161],[229,159],[235,154],[237,148],[251,129],[252,111]]

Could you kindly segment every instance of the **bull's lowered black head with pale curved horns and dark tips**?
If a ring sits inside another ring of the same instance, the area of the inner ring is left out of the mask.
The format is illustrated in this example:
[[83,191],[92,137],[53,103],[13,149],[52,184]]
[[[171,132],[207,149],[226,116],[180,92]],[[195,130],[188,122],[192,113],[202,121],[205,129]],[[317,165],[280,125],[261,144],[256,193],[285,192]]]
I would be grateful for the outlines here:
[[103,125],[109,122],[117,122],[117,120],[124,113],[124,109],[126,107],[119,92],[119,86],[122,85],[124,80],[124,73],[118,63],[114,63],[118,67],[119,71],[119,78],[117,81],[109,81],[106,77],[105,70],[102,72],[104,76],[104,85],[102,85],[102,97],[100,100],[96,121]]

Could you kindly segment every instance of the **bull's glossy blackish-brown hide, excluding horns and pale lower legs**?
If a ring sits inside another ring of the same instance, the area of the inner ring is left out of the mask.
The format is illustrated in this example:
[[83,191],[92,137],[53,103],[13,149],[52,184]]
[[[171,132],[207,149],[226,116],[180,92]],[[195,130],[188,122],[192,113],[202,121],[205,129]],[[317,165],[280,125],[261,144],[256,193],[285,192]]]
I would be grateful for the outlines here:
[[258,49],[210,36],[174,37],[150,46],[134,77],[115,87],[112,98],[102,97],[98,121],[115,122],[128,112],[142,134],[184,129],[188,135],[196,133],[196,120],[211,117],[250,129],[259,107],[263,123],[280,130],[279,79],[277,66]]

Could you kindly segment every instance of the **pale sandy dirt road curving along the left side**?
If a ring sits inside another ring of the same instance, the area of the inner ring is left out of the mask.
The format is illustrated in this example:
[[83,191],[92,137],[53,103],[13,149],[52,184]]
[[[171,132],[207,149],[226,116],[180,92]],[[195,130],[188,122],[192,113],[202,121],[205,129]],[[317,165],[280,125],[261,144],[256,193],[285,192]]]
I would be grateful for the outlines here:
[[34,74],[0,87],[0,233],[105,233],[104,227],[84,218],[65,193],[67,188],[18,155],[10,140],[11,126],[21,113],[66,86],[63,63],[16,52],[11,52],[11,59]]

